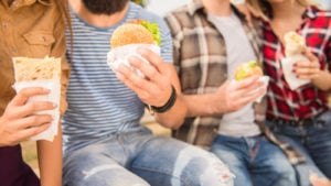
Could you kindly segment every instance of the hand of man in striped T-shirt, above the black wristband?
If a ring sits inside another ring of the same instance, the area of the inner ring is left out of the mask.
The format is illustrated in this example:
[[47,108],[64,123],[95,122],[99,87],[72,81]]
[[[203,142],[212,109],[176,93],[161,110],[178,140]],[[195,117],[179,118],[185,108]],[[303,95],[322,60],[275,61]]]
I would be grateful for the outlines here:
[[149,63],[137,56],[130,56],[129,63],[145,77],[139,76],[126,65],[118,67],[117,77],[132,89],[145,103],[161,107],[168,101],[172,91],[171,64],[166,64],[158,54],[147,48],[139,48],[138,54]]

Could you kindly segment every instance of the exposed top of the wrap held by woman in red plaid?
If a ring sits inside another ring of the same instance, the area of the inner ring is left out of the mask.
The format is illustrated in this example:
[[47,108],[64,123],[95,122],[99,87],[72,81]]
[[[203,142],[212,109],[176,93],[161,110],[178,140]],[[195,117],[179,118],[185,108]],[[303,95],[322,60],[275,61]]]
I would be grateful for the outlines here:
[[297,32],[288,32],[284,36],[285,41],[285,55],[295,56],[300,55],[307,50],[305,39]]

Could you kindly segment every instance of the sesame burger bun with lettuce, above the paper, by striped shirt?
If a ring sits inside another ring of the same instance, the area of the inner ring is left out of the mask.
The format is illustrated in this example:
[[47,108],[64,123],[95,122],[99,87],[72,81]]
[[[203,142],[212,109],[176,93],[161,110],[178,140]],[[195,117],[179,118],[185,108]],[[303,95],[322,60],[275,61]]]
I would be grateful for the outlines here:
[[110,37],[111,48],[128,44],[160,45],[160,43],[161,37],[158,24],[145,20],[134,20],[118,26]]

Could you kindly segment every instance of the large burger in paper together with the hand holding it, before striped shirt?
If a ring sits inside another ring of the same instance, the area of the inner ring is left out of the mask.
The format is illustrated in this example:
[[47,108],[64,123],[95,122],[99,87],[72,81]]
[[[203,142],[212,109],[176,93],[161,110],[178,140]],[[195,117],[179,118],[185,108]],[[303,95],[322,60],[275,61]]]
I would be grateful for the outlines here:
[[110,39],[108,64],[117,77],[157,112],[168,111],[175,102],[171,86],[171,64],[160,57],[157,23],[135,20],[117,28]]

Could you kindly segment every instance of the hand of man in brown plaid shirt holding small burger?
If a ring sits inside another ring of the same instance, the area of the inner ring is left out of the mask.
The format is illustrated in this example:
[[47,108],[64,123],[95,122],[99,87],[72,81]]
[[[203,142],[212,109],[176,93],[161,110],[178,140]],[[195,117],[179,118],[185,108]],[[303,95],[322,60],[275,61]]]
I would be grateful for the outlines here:
[[214,100],[218,107],[216,112],[233,112],[239,110],[249,102],[266,92],[264,83],[258,80],[258,76],[252,76],[241,81],[227,80],[214,94],[218,100]]

